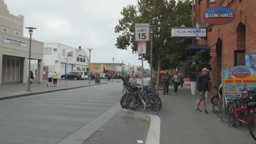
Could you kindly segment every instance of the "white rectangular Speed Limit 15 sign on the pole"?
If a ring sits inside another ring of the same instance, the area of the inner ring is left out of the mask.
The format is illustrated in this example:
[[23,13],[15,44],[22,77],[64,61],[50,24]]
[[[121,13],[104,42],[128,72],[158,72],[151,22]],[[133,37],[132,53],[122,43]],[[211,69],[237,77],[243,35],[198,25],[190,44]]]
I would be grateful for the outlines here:
[[135,24],[135,41],[149,41],[149,24]]

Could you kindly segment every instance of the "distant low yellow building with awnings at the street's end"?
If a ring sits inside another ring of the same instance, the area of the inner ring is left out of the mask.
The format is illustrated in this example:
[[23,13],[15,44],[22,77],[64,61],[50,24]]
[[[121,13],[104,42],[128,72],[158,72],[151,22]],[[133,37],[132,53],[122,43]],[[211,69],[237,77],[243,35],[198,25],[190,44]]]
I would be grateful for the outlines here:
[[90,72],[92,73],[108,73],[108,72],[116,72],[117,69],[115,66],[105,63],[91,63],[90,64]]

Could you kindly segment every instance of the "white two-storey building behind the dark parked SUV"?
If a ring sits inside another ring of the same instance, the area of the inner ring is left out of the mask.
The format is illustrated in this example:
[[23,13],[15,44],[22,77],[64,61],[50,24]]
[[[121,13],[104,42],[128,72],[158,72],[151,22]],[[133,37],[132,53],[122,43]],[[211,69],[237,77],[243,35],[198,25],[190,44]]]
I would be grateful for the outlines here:
[[[72,53],[72,57],[67,58],[68,52]],[[59,73],[60,78],[60,76],[66,74],[66,72],[89,69],[89,57],[83,49],[72,48],[60,43],[45,43],[43,57],[44,79],[47,79],[47,74],[50,70]]]

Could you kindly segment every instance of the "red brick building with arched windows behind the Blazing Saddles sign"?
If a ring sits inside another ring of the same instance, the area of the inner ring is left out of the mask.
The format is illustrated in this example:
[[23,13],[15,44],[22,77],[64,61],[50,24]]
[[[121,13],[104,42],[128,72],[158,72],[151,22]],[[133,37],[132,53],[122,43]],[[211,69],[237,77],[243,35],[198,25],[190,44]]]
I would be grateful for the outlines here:
[[[214,45],[210,61],[212,71],[210,96],[216,94],[213,86],[221,83],[221,68],[245,65],[245,54],[256,53],[256,0],[195,0],[195,23],[207,27],[207,39],[195,44]],[[212,7],[228,7],[235,12],[235,19],[225,25],[210,25],[203,20],[203,13]],[[217,43],[217,44],[216,44]]]

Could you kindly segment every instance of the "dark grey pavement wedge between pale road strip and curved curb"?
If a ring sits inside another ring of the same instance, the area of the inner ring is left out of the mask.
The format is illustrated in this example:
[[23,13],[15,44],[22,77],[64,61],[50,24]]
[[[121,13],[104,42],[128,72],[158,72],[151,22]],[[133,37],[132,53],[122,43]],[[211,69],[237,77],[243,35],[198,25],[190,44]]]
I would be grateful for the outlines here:
[[145,120],[129,118],[118,112],[83,144],[145,144],[149,123]]

